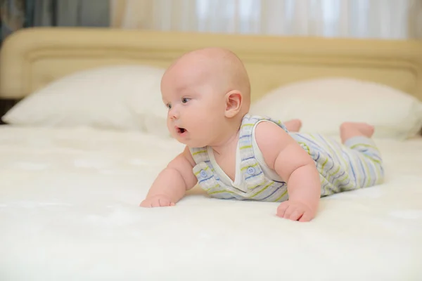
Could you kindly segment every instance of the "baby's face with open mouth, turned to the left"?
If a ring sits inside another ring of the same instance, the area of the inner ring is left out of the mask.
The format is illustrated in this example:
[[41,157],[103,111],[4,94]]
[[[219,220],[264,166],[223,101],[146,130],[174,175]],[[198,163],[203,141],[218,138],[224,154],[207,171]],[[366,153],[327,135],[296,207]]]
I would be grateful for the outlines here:
[[177,141],[192,148],[210,145],[224,122],[224,93],[212,76],[199,68],[174,67],[162,77],[167,128]]

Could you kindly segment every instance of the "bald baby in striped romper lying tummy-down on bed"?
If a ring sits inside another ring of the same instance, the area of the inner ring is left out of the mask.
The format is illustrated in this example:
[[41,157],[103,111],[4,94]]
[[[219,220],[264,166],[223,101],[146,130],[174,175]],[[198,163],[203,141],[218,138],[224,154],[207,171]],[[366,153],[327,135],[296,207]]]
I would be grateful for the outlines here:
[[311,221],[321,197],[383,182],[373,126],[347,122],[342,143],[299,133],[300,120],[251,115],[241,60],[223,48],[182,55],[161,81],[167,127],[186,148],[160,172],[141,207],[174,206],[199,185],[212,197],[281,202],[276,214]]

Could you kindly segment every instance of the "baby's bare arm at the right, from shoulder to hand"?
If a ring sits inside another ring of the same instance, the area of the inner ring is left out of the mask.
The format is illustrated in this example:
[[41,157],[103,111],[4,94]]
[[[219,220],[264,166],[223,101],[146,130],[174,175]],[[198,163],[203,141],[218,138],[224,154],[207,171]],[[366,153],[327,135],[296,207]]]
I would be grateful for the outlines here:
[[289,200],[277,215],[293,221],[310,221],[316,215],[321,182],[314,160],[278,125],[260,122],[255,138],[265,162],[287,183]]

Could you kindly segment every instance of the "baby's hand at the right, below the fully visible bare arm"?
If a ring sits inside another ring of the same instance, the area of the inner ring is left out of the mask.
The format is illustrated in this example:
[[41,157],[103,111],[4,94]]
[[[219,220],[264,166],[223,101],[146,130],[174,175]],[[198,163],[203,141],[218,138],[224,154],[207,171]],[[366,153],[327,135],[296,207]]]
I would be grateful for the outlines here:
[[279,205],[277,216],[292,221],[311,221],[315,216],[315,211],[302,202],[288,200]]

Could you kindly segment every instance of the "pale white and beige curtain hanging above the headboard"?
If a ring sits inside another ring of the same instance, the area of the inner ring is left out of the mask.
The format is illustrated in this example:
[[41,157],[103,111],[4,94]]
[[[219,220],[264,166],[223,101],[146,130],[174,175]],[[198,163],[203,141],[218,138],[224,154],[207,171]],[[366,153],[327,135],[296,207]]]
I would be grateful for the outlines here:
[[110,0],[112,26],[281,36],[422,37],[422,0]]

